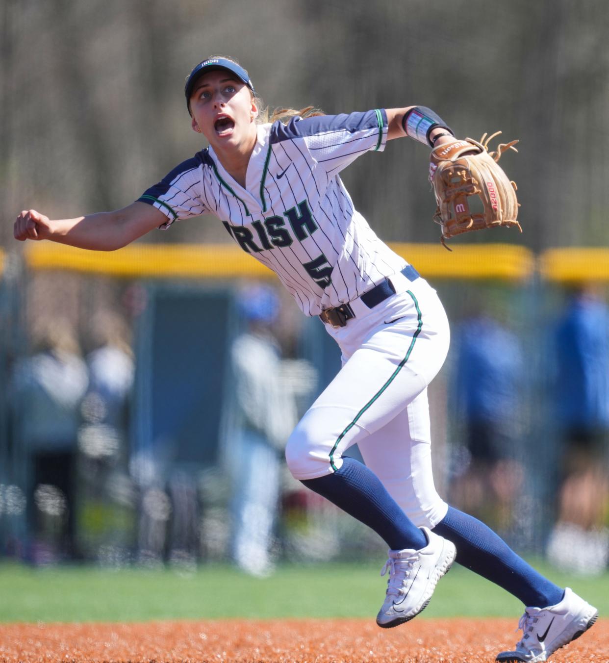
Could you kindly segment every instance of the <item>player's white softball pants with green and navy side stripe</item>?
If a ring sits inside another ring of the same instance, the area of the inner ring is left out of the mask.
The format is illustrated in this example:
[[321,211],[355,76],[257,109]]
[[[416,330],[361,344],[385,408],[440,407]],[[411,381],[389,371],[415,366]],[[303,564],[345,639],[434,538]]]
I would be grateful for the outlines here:
[[296,479],[314,479],[339,469],[357,443],[409,518],[433,528],[448,505],[433,484],[427,385],[446,358],[449,324],[423,278],[391,280],[398,294],[372,309],[358,306],[345,327],[326,325],[343,367],[296,426],[286,459]]

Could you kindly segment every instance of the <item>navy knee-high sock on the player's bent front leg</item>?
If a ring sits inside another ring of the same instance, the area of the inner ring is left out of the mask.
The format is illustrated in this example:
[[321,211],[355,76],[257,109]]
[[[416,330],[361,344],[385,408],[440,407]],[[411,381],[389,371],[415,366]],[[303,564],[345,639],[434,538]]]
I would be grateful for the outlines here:
[[400,509],[376,474],[354,458],[343,457],[343,465],[335,473],[302,483],[372,528],[391,550],[427,546],[425,534]]

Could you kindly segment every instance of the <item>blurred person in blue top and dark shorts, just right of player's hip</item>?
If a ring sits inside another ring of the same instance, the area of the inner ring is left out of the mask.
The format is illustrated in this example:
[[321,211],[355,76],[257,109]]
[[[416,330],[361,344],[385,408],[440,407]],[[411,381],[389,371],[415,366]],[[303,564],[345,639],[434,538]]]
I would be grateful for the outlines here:
[[515,457],[522,347],[518,336],[490,310],[462,322],[456,341],[454,397],[464,424],[467,457],[457,470],[453,499],[507,534],[523,476]]

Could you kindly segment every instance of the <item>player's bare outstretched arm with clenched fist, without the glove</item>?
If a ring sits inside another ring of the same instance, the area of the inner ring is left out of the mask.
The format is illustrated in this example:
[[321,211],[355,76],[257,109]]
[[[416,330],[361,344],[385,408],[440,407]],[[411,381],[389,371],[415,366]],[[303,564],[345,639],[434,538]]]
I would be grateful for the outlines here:
[[76,219],[51,220],[36,210],[24,210],[15,221],[13,234],[19,241],[50,239],[80,249],[115,251],[166,220],[162,211],[142,202]]

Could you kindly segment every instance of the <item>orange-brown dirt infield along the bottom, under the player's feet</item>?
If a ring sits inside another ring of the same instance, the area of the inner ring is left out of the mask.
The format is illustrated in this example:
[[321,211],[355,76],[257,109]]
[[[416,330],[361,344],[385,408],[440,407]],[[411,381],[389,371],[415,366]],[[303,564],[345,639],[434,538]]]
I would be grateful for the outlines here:
[[[490,662],[514,646],[515,626],[505,619],[418,619],[388,631],[360,619],[10,624],[0,625],[0,661]],[[551,661],[609,661],[609,620]]]

